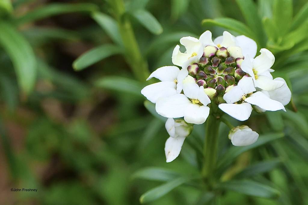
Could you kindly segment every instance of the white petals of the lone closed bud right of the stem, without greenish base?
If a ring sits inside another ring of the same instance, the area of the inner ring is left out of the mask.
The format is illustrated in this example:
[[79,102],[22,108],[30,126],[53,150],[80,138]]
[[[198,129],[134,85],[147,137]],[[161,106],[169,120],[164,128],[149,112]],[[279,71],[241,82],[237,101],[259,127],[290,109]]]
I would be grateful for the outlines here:
[[259,134],[257,132],[242,130],[236,132],[233,137],[231,137],[231,142],[234,146],[247,146],[255,143],[258,137]]

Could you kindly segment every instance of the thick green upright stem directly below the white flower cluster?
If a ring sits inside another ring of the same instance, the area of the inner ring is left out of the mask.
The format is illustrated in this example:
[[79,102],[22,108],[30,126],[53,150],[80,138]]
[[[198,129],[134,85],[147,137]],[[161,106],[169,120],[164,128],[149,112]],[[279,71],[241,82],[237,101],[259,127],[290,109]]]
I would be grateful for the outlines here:
[[219,123],[220,120],[216,116],[209,115],[206,124],[202,176],[210,188],[214,183],[213,175],[216,169]]

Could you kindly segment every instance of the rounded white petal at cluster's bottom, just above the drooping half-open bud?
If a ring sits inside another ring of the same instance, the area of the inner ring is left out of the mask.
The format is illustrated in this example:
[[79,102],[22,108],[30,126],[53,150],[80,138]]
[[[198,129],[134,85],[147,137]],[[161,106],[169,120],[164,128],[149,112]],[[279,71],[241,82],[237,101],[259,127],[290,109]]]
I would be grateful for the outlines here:
[[190,104],[184,113],[184,120],[188,123],[202,124],[208,118],[210,108],[205,105]]

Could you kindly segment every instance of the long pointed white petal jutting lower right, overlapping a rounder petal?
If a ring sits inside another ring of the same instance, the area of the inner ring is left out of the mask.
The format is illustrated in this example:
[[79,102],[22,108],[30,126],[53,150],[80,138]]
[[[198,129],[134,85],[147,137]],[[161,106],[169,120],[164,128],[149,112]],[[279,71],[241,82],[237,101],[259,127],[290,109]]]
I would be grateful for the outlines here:
[[250,104],[255,104],[265,110],[270,110],[270,111],[284,110],[286,111],[283,104],[281,104],[278,101],[270,99],[261,91],[253,93],[250,97],[247,97],[245,102],[248,102]]

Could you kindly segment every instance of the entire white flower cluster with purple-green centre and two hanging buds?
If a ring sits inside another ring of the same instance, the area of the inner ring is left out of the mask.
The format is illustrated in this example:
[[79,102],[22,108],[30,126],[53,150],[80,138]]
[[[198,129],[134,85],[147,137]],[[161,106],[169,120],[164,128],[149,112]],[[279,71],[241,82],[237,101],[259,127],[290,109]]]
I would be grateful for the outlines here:
[[[210,114],[211,104],[216,104],[237,120],[247,120],[254,109],[257,112],[285,110],[291,92],[283,78],[273,79],[271,69],[275,57],[262,48],[257,54],[257,44],[241,35],[234,37],[225,31],[212,40],[205,31],[199,39],[182,37],[180,52],[176,45],[172,63],[154,71],[147,80],[155,77],[161,82],[144,87],[141,93],[156,104],[156,112],[167,117],[166,129],[170,135],[165,144],[167,162],[180,153],[192,124],[203,124]],[[182,118],[176,119],[173,118]],[[235,146],[254,143],[257,132],[247,126],[232,129],[229,139]]]

